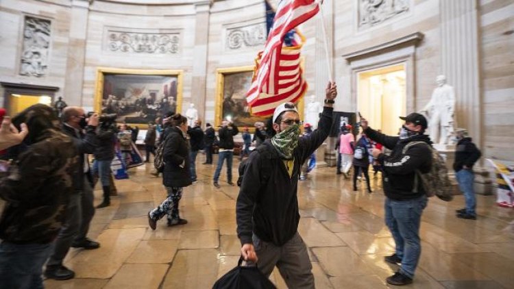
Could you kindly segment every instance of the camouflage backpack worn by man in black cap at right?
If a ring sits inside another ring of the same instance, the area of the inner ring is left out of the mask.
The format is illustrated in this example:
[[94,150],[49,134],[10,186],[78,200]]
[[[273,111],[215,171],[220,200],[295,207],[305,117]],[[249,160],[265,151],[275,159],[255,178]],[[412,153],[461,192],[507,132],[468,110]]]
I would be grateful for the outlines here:
[[432,167],[428,173],[421,173],[415,171],[414,178],[414,192],[417,191],[418,179],[421,179],[421,184],[425,189],[428,197],[436,195],[443,201],[452,201],[453,199],[453,186],[448,177],[448,168],[443,160],[443,157],[439,155],[439,152],[428,145],[426,142],[409,142],[403,149],[402,153],[405,153],[410,147],[414,145],[424,144],[430,151],[432,151]]

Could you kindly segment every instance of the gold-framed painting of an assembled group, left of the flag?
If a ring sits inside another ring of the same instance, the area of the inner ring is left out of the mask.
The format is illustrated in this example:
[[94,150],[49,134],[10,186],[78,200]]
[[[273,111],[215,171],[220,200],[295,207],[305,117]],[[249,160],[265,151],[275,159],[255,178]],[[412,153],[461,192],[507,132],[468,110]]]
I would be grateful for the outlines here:
[[95,111],[117,114],[117,123],[146,127],[181,108],[182,71],[97,69]]

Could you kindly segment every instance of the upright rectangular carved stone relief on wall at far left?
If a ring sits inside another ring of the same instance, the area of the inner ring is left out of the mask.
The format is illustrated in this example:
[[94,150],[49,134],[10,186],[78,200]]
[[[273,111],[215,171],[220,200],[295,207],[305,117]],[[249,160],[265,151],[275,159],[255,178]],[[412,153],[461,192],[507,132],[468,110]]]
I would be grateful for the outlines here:
[[42,77],[47,74],[51,42],[51,22],[25,16],[20,75]]

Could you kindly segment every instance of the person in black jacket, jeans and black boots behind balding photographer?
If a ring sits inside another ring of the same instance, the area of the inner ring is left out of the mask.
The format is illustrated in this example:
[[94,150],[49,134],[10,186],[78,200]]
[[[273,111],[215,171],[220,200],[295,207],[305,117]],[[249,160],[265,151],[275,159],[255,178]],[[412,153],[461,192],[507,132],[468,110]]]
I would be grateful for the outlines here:
[[97,129],[98,147],[95,149],[95,161],[93,162],[93,175],[98,175],[103,190],[103,201],[97,205],[97,209],[110,205],[110,164],[114,159],[114,145],[116,145],[116,114],[100,116],[100,125]]

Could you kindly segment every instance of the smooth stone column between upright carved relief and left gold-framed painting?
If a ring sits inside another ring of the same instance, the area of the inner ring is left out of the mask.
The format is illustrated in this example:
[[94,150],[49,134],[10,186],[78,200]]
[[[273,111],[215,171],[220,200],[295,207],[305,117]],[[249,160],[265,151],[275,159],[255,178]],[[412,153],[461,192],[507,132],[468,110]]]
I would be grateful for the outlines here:
[[88,0],[71,1],[71,24],[68,55],[66,58],[66,80],[62,98],[68,105],[82,106],[82,85],[84,84],[84,62],[88,31]]

